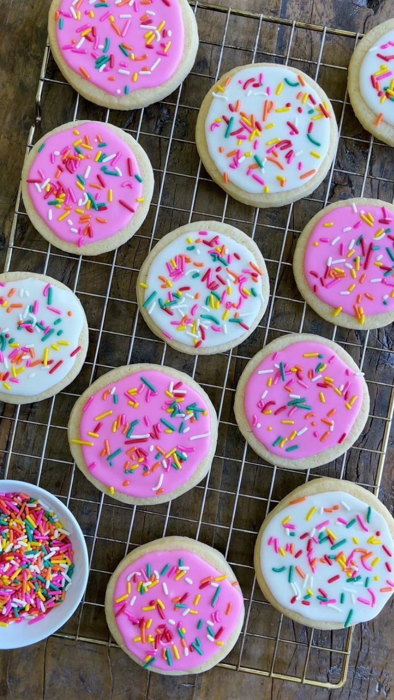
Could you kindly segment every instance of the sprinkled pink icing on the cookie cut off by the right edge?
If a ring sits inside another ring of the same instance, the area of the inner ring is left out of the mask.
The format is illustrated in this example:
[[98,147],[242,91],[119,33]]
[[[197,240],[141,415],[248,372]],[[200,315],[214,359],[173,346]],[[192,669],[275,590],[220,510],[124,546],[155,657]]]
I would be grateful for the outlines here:
[[360,323],[394,308],[393,218],[391,204],[344,204],[322,216],[307,243],[309,287],[321,301],[342,307]]

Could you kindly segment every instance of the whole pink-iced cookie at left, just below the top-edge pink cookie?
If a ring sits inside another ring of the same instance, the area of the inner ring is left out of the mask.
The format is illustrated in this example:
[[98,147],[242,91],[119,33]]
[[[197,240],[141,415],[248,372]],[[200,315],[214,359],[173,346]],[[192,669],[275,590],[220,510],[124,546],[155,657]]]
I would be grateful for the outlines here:
[[24,162],[31,223],[66,253],[100,255],[139,230],[153,193],[148,156],[112,124],[69,122],[37,141]]

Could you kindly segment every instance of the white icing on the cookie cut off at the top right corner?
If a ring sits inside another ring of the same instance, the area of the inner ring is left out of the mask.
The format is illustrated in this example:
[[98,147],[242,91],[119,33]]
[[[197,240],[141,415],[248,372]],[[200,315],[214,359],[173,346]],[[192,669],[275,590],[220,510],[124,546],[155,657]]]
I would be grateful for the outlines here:
[[[391,41],[392,44],[385,47],[385,44],[388,44],[389,41]],[[382,48],[382,46],[385,48]],[[378,53],[384,57],[391,56],[391,59],[384,60],[377,55]],[[385,73],[391,73],[391,75],[383,79],[377,76],[382,93],[379,97],[378,90],[372,85],[371,76],[384,69],[387,69]],[[381,102],[382,97],[385,97],[384,87],[389,87],[394,91],[394,29],[387,31],[386,34],[379,37],[365,54],[360,66],[360,92],[365,102],[375,114],[382,113],[385,122],[394,125],[394,102],[388,99],[388,97]],[[394,96],[392,95],[391,97]]]

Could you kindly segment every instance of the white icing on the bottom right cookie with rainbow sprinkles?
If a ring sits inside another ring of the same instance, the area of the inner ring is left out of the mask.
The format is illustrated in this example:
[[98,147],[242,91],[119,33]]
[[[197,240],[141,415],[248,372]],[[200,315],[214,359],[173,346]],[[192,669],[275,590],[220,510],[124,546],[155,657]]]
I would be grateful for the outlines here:
[[[323,510],[323,508],[330,508],[334,505],[339,505],[339,510],[335,510],[332,513]],[[310,519],[307,520],[308,514],[314,507],[316,507],[316,510],[311,514]],[[377,540],[383,543],[388,547],[391,554],[394,554],[394,543],[386,519],[372,508],[370,522],[368,523],[367,511],[367,505],[349,493],[325,491],[309,496],[302,503],[282,508],[280,512],[276,513],[265,528],[261,540],[260,562],[265,582],[276,601],[283,605],[283,608],[299,612],[300,615],[304,615],[304,617],[312,621],[339,622],[342,624],[345,624],[349,610],[354,610],[350,624],[357,624],[358,622],[372,619],[380,612],[390,598],[391,591],[394,591],[394,586],[391,586],[389,583],[390,581],[394,582],[394,572],[390,572],[386,567],[387,562],[389,567],[394,568],[394,556],[389,556],[384,551],[382,544],[373,542]],[[295,530],[297,534],[295,536],[290,535],[292,530],[283,525],[283,520],[289,515],[291,519],[286,524],[288,526],[297,526]],[[367,532],[363,529],[360,521],[358,521],[358,515],[363,520],[364,526],[367,527]],[[346,528],[346,524],[341,524],[337,521],[338,518],[344,519],[346,523],[356,519],[356,523],[350,528]],[[328,520],[330,520],[330,524],[319,528],[322,523]],[[335,542],[341,542],[345,538],[347,542],[335,549],[331,548],[330,540],[325,540],[321,544],[312,542],[314,549],[311,554],[311,560],[317,559],[315,571],[313,571],[307,556],[309,537],[300,540],[300,535],[309,533],[310,537],[316,537],[320,532],[327,535],[327,528],[336,536]],[[377,532],[380,532],[379,536],[376,535]],[[302,549],[302,554],[296,558],[290,552],[286,552],[286,556],[282,556],[280,551],[276,553],[274,542],[268,545],[271,537],[279,538],[279,547],[283,547],[285,552],[286,545],[293,543],[294,554],[300,549]],[[354,542],[353,538],[356,538],[358,543]],[[371,541],[370,538],[375,539]],[[365,559],[365,564],[372,570],[365,568],[361,561],[360,557],[363,556],[363,552],[353,551],[359,548],[372,552]],[[351,561],[349,561],[348,558],[352,551]],[[335,554],[337,556],[340,552],[344,552],[349,567],[356,567],[356,575],[361,576],[360,581],[347,582],[346,579],[349,576],[343,573],[342,567],[335,559],[330,560],[332,561],[332,566],[321,562],[324,554]],[[377,558],[379,559],[377,560]],[[286,570],[281,573],[275,573],[272,570],[272,567],[281,568],[283,566],[286,566]],[[293,582],[288,581],[289,566],[294,567]],[[302,578],[295,570],[295,566],[300,567],[308,578]],[[340,575],[338,580],[328,583],[328,579],[338,574]],[[375,580],[374,577],[377,576],[379,580]],[[369,581],[366,587],[367,577]],[[329,600],[333,601],[332,603],[323,604],[318,600],[317,596],[321,595],[318,591],[319,588],[328,594]],[[381,588],[391,590],[381,592]],[[302,598],[307,595],[308,589],[311,589],[314,595],[309,598],[311,604],[304,605],[302,604]],[[372,591],[372,594],[370,591]],[[343,603],[341,603],[342,593],[345,594]],[[296,596],[297,600],[291,604],[290,600],[293,596]],[[376,601],[374,601],[374,596]],[[363,598],[367,603],[358,601],[358,598]]]

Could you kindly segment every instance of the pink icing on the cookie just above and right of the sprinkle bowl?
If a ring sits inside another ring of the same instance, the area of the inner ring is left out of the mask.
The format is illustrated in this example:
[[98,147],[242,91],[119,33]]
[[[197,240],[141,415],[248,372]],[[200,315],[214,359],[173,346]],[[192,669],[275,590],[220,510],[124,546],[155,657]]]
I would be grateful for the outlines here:
[[80,439],[90,443],[83,457],[102,484],[155,498],[187,482],[208,454],[211,415],[202,396],[170,370],[130,372],[87,401]]

